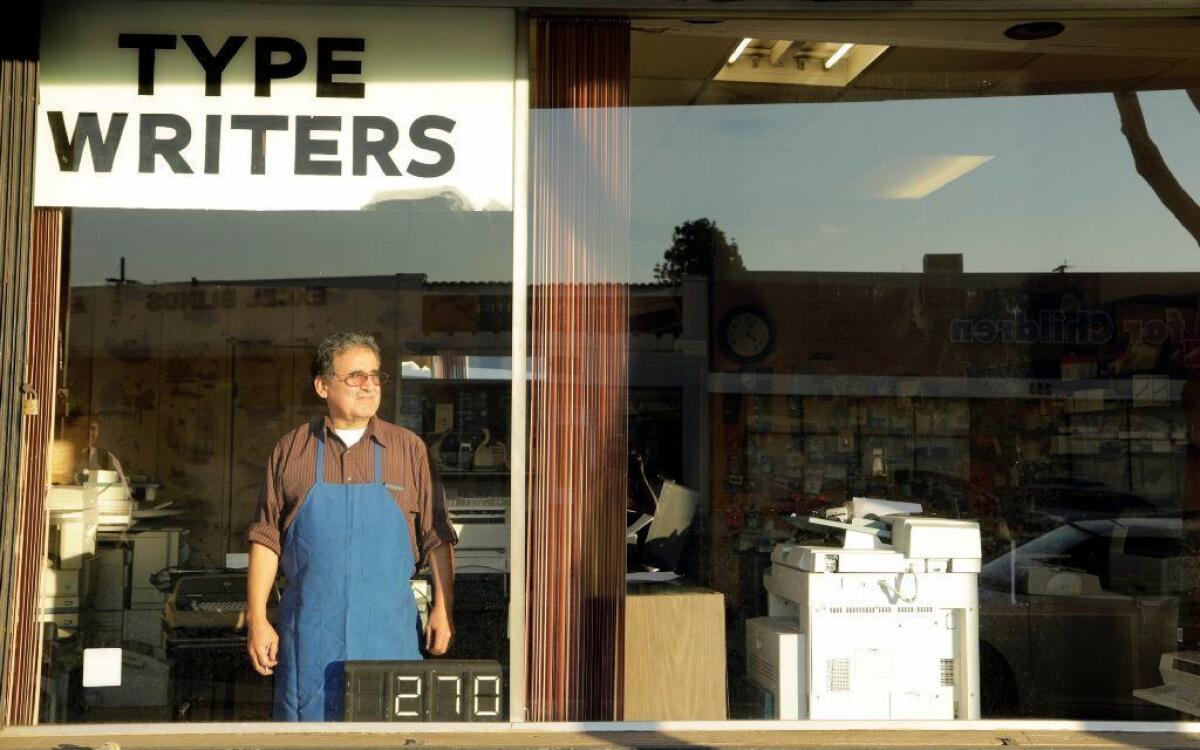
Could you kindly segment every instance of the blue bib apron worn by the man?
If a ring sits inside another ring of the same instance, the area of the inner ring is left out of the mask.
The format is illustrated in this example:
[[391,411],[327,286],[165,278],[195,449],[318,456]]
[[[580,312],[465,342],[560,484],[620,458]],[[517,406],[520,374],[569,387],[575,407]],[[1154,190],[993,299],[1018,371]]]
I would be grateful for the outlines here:
[[341,720],[347,660],[421,658],[408,518],[383,484],[379,444],[374,484],[326,484],[322,428],[316,479],[280,558],[276,721]]

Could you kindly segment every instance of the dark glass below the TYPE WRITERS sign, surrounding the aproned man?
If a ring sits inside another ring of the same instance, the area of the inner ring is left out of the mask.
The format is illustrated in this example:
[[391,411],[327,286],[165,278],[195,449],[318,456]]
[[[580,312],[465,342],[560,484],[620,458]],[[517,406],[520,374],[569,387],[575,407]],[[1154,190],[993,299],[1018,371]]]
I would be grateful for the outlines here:
[[[44,721],[271,716],[246,655],[247,529],[276,443],[326,413],[311,365],[343,330],[379,343],[378,418],[426,446],[457,532],[449,655],[506,665],[510,248],[511,215],[438,206],[72,212]],[[84,541],[68,505],[91,496]],[[84,685],[96,648],[122,649],[120,686]]]

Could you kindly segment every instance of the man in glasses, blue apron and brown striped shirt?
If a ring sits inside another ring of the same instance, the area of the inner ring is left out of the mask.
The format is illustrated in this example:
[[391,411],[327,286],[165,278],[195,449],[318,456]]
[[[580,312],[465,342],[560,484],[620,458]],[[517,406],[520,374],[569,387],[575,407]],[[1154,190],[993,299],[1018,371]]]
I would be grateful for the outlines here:
[[[425,650],[454,635],[454,529],[425,443],[376,416],[388,382],[365,334],[317,348],[313,388],[326,416],[275,445],[250,541],[246,648],[275,674],[277,721],[342,718],[344,662],[420,659],[409,578],[428,560],[433,602]],[[287,586],[276,624],[266,600],[278,566]]]

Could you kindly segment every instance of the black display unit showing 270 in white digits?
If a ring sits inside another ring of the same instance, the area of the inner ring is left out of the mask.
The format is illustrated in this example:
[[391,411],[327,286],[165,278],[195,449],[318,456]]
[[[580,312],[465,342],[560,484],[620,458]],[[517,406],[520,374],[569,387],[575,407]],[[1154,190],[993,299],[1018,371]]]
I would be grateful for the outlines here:
[[504,721],[498,661],[347,661],[347,721]]

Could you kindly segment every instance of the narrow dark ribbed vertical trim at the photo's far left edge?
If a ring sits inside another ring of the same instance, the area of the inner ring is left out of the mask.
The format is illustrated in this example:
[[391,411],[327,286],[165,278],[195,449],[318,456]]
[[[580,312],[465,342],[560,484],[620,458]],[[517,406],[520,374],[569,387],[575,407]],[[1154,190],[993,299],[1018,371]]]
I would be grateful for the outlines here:
[[[22,383],[25,379],[29,263],[34,214],[38,2],[17,4],[0,23],[0,721],[14,710],[12,605],[22,487]],[[28,602],[26,602],[28,604]],[[36,671],[34,672],[36,678]]]

